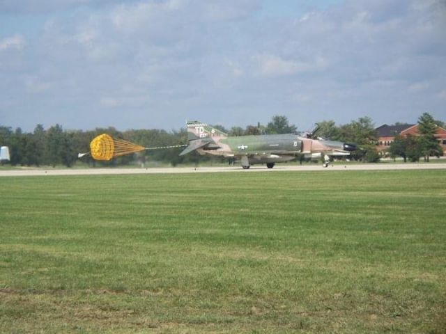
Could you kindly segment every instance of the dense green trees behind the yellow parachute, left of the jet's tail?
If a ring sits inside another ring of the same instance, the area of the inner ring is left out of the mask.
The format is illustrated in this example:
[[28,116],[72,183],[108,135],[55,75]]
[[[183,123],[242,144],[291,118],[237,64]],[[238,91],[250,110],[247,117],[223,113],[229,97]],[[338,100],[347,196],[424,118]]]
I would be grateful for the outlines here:
[[[146,147],[179,145],[187,142],[185,129],[167,132],[160,129],[130,129],[124,132],[114,127],[96,128],[90,131],[65,130],[59,124],[45,129],[37,125],[33,132],[22,132],[20,127],[0,126],[0,144],[9,147],[12,166],[73,166],[79,152],[89,152],[90,142],[99,134],[109,134],[113,138],[124,139]],[[196,157],[178,157],[178,150],[158,150],[146,154],[130,154],[112,161],[95,161],[91,157],[82,160],[89,165],[115,166],[136,162],[153,161],[180,164],[194,161]]]

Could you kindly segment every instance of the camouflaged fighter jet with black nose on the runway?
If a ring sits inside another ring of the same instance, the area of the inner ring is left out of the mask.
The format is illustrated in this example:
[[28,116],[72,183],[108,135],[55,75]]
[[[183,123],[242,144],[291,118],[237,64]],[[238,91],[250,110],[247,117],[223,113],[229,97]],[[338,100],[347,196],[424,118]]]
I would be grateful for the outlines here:
[[218,129],[199,121],[187,121],[189,145],[180,153],[193,151],[240,161],[244,169],[254,164],[273,168],[276,162],[291,161],[299,157],[315,159],[324,157],[324,167],[332,156],[348,156],[356,145],[340,141],[314,138],[314,132],[300,134],[263,134],[256,136],[228,136]]

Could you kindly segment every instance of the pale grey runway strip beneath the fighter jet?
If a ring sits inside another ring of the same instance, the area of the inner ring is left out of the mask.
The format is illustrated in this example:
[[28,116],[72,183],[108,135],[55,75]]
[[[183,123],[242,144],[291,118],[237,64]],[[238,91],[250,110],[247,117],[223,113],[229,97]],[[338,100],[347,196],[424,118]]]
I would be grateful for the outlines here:
[[446,164],[336,164],[323,168],[314,165],[287,165],[277,164],[274,168],[266,166],[252,166],[248,170],[240,166],[218,167],[170,167],[170,168],[84,168],[84,169],[57,169],[57,168],[20,168],[13,170],[0,170],[0,177],[6,176],[55,176],[55,175],[125,175],[125,174],[178,174],[178,173],[279,173],[279,172],[305,172],[349,170],[446,170]]

